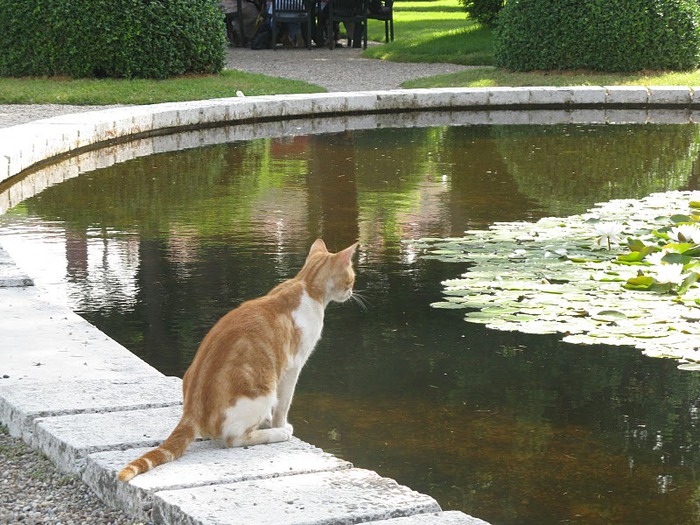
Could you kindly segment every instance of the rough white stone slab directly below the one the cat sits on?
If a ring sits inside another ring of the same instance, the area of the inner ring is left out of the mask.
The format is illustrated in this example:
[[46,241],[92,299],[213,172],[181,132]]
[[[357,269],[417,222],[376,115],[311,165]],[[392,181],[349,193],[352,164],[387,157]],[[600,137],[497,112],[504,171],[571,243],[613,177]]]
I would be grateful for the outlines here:
[[439,512],[430,496],[362,469],[300,474],[156,494],[154,523],[343,525]]

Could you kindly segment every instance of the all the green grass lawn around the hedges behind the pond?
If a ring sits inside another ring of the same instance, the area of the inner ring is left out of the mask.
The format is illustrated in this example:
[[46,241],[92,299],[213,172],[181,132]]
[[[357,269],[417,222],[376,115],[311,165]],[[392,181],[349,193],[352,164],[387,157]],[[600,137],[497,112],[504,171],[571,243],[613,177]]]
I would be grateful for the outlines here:
[[[403,87],[567,85],[700,86],[700,70],[601,74],[586,71],[511,73],[493,64],[491,30],[468,20],[459,0],[398,0],[396,40],[384,44],[384,22],[370,20],[364,56],[397,62],[450,62],[479,66],[451,75],[406,82]],[[0,78],[0,104],[150,104],[234,96],[317,93],[319,86],[240,71],[170,80]]]

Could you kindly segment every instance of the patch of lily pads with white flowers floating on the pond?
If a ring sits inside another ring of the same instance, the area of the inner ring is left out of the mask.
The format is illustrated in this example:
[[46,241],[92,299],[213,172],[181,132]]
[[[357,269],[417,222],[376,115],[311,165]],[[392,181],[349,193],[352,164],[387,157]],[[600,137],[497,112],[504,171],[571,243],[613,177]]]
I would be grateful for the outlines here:
[[[466,308],[469,322],[700,362],[698,199],[657,193],[414,244],[424,258],[473,264],[445,281],[444,300],[433,304]],[[688,214],[677,213],[689,203]]]

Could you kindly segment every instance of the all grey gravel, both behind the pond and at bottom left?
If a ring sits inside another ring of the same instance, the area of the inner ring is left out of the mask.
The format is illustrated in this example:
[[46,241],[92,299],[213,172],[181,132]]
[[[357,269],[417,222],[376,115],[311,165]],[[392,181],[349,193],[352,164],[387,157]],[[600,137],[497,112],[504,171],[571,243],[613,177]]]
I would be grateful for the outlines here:
[[[406,80],[464,69],[453,64],[407,64],[366,59],[361,50],[228,48],[226,67],[304,80],[329,91],[396,89]],[[115,106],[60,104],[0,105],[0,128],[67,113]],[[66,476],[23,441],[0,427],[0,523],[131,525],[123,513],[97,499],[75,477]]]

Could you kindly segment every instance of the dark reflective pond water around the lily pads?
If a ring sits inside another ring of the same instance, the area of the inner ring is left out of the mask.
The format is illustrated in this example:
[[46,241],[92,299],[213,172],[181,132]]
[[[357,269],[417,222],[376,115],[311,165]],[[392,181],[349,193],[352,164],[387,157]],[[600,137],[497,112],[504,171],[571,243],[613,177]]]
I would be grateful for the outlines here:
[[[37,281],[166,374],[211,324],[359,239],[367,310],[331,306],[296,434],[494,525],[700,522],[700,376],[635,350],[434,310],[466,266],[405,241],[696,189],[695,126],[472,126],[154,155],[0,217]],[[41,255],[38,255],[41,254]]]

